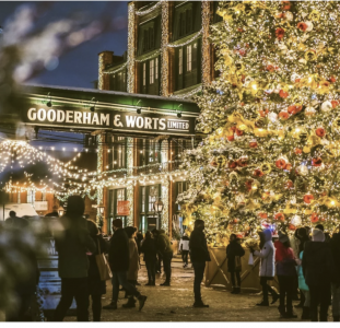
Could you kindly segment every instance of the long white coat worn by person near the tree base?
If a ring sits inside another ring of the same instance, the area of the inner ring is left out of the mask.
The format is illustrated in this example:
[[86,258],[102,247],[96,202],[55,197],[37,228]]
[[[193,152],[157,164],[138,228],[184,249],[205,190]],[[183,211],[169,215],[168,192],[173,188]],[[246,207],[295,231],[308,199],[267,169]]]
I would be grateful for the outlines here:
[[261,259],[260,262],[260,277],[274,277],[275,276],[275,248],[271,241],[271,231],[265,230],[266,243],[261,250],[255,250],[254,255]]

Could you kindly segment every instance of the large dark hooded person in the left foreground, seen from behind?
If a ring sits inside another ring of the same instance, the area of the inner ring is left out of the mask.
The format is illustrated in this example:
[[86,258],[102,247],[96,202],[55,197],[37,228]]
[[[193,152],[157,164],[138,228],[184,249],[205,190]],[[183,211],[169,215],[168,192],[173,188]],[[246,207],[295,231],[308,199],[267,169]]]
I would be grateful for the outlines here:
[[73,195],[68,198],[66,214],[59,219],[62,229],[56,230],[56,248],[59,256],[58,271],[61,278],[61,298],[55,312],[55,321],[62,321],[73,297],[77,303],[77,320],[89,321],[89,259],[86,253],[95,253],[96,245],[90,236],[83,219],[84,200]]

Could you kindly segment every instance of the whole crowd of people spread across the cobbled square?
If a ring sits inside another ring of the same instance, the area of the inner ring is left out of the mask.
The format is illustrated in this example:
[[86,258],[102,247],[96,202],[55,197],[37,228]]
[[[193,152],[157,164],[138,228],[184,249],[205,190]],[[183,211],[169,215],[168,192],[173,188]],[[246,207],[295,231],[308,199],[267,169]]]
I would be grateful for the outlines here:
[[[133,226],[122,227],[120,219],[113,220],[113,236],[107,242],[95,222],[84,219],[84,201],[79,196],[68,198],[66,214],[59,218],[59,229],[54,231],[58,250],[58,271],[61,279],[61,298],[55,311],[54,320],[62,321],[73,300],[77,303],[77,318],[89,321],[90,300],[92,301],[92,317],[99,321],[102,308],[115,311],[118,305],[119,291],[126,292],[127,303],[122,307],[137,307],[141,311],[146,302],[146,295],[138,290],[138,273],[141,260],[148,271],[146,286],[156,285],[156,272],[161,272],[163,262],[165,281],[160,285],[169,286],[172,278],[173,247],[169,237],[163,230],[148,231],[145,236]],[[5,225],[19,231],[28,226],[30,222],[10,212]],[[340,233],[330,237],[324,233],[324,226],[317,225],[297,229],[290,238],[279,232],[273,236],[271,230],[259,232],[258,247],[249,247],[250,254],[260,259],[259,281],[262,286],[262,301],[257,306],[269,306],[268,294],[272,296],[271,304],[279,300],[281,318],[296,318],[293,301],[298,300],[302,307],[302,319],[326,321],[328,308],[332,306],[333,321],[340,319]],[[210,261],[204,221],[196,220],[190,237],[184,235],[179,243],[184,268],[188,266],[188,255],[195,272],[194,307],[209,307],[202,302],[201,282],[207,261]],[[107,255],[110,282],[113,285],[112,301],[102,306],[102,295],[106,294],[106,281],[103,279],[98,257]],[[231,274],[232,293],[241,293],[242,257],[245,249],[241,246],[237,235],[230,236],[226,247],[227,268]],[[37,260],[33,280],[21,285],[17,294],[21,305],[16,313],[8,315],[8,320],[23,320],[30,306],[30,297],[34,293],[39,273]],[[277,277],[279,291],[272,281]],[[120,289],[121,288],[121,289]],[[319,309],[318,309],[319,307]]]

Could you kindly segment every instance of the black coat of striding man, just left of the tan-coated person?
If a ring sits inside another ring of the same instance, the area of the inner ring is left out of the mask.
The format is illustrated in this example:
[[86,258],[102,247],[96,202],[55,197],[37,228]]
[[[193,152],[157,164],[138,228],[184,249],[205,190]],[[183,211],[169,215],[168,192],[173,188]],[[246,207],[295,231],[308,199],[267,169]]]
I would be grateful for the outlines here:
[[124,229],[115,231],[109,241],[108,262],[114,272],[129,270],[129,238]]

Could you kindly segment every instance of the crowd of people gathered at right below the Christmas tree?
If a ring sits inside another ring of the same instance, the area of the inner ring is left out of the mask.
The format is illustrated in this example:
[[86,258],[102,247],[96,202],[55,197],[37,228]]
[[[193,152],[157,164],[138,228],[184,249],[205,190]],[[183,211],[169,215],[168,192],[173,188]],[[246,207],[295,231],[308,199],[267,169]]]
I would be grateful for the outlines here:
[[[332,237],[317,225],[310,232],[308,226],[300,227],[290,238],[283,232],[277,237],[271,230],[259,232],[259,249],[250,247],[250,253],[260,259],[260,284],[263,298],[258,306],[269,306],[280,300],[281,318],[297,318],[293,311],[293,300],[302,307],[302,320],[327,321],[328,308],[332,307],[333,321],[340,317],[340,233]],[[226,248],[228,271],[233,285],[232,293],[239,293],[242,270],[237,262],[245,251],[236,235],[232,235]],[[238,260],[237,260],[238,259]],[[236,281],[235,281],[236,277]],[[280,294],[269,281],[278,278]]]

